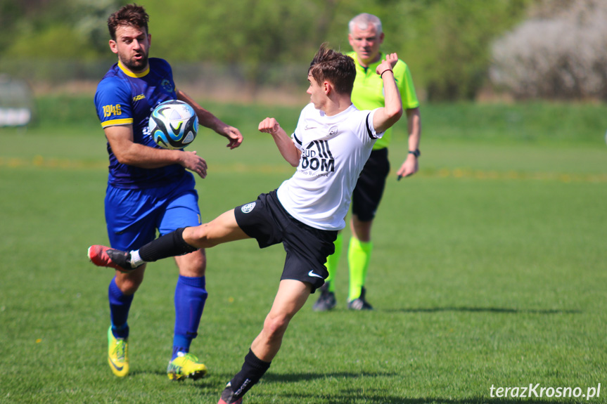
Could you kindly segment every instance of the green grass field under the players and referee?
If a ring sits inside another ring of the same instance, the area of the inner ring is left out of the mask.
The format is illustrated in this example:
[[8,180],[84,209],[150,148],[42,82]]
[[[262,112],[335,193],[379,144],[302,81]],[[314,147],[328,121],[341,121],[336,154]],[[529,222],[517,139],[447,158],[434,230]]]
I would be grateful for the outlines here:
[[[245,143],[230,151],[201,130],[192,147],[209,165],[198,181],[207,220],[290,176],[256,128],[276,116],[293,129],[300,110],[209,108]],[[210,375],[197,382],[165,374],[177,269],[151,264],[129,318],[132,372],[115,378],[113,271],[86,258],[107,242],[93,111],[90,98],[44,98],[37,125],[0,129],[0,403],[215,404],[269,311],[283,249],[245,240],[207,252],[210,297],[192,351]],[[603,105],[424,106],[421,171],[392,174],[373,230],[376,310],[345,310],[344,255],[338,308],[313,313],[312,297],[245,403],[607,403],[606,116]],[[393,171],[407,147],[395,135]],[[530,384],[548,390],[492,396]],[[581,396],[599,384],[599,397]],[[547,397],[568,387],[580,396]]]

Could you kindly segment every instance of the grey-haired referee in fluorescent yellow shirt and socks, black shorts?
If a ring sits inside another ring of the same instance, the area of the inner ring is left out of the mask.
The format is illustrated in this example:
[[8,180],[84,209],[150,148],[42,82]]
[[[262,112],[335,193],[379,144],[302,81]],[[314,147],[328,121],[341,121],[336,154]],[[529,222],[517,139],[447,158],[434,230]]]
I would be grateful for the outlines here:
[[[347,55],[354,59],[356,64],[352,103],[359,110],[383,107],[383,82],[381,77],[376,74],[376,68],[384,57],[379,49],[384,38],[381,20],[375,15],[359,14],[350,20],[348,29],[350,32],[348,40],[353,51]],[[409,133],[409,153],[396,172],[397,179],[400,180],[402,177],[415,174],[418,170],[421,119],[411,72],[402,60],[398,60],[395,65],[394,76],[402,98],[402,107],[407,114]],[[364,285],[373,250],[371,226],[383,195],[385,180],[390,172],[388,146],[391,138],[392,129],[388,129],[383,137],[376,141],[371,157],[366,162],[352,194],[352,218],[350,219],[352,237],[347,252],[350,269],[347,308],[352,310],[371,310],[372,308],[366,301]],[[326,267],[329,275],[321,289],[319,299],[312,306],[314,311],[331,310],[337,304],[334,280],[342,245],[343,235],[340,233],[335,242],[335,253],[327,259]]]

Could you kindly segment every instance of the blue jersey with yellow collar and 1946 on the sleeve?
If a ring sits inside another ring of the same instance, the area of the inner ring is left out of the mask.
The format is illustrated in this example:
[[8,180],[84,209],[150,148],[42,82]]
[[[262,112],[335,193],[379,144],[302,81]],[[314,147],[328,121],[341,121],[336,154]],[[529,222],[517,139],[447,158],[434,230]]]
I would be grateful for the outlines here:
[[[148,70],[139,74],[124,69],[120,62],[113,65],[97,86],[95,107],[103,128],[132,124],[134,143],[160,148],[150,136],[150,114],[156,105],[176,98],[171,66],[166,60],[150,58]],[[108,154],[108,183],[116,188],[155,188],[191,175],[179,164],[158,169],[120,164],[109,142]]]

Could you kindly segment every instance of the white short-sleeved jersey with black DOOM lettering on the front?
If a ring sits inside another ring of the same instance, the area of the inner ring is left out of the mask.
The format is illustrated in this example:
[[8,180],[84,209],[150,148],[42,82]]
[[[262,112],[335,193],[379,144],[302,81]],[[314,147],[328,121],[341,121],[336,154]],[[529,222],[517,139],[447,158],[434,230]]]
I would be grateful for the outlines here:
[[302,155],[295,174],[284,181],[277,196],[298,221],[321,230],[341,230],[352,192],[376,139],[376,110],[354,105],[328,117],[310,103],[301,112],[291,139]]

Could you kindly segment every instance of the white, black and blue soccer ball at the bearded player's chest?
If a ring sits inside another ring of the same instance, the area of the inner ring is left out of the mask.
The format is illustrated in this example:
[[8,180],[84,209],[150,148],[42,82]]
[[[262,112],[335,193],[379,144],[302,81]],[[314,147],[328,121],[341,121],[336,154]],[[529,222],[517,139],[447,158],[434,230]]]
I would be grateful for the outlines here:
[[161,148],[182,149],[196,138],[198,116],[188,103],[168,100],[154,108],[148,128]]

